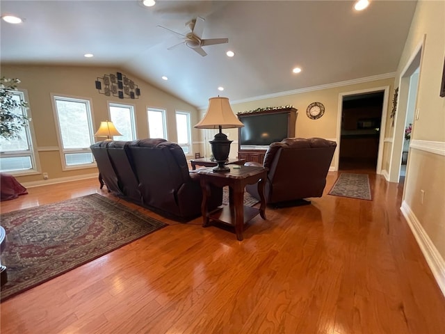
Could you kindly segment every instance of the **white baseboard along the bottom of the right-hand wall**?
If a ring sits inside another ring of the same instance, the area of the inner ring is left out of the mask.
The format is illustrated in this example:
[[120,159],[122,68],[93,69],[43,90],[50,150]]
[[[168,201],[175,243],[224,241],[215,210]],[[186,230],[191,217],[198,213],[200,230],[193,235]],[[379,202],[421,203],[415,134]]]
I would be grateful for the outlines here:
[[428,234],[423,230],[421,223],[405,201],[402,202],[401,212],[410,226],[417,244],[419,244],[437,285],[439,285],[442,294],[445,296],[445,261],[442,255],[440,255],[437,248],[432,244],[430,237],[428,237]]

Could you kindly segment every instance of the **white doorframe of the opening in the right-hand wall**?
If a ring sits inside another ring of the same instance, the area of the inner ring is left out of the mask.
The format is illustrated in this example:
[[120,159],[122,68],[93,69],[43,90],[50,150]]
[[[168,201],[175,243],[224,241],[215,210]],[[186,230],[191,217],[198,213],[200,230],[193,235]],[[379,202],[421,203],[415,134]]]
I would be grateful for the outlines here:
[[[410,93],[410,80],[414,71],[419,68],[419,81],[417,82],[417,92],[419,90],[419,84],[421,80],[422,73],[422,57],[423,57],[423,49],[425,45],[426,35],[423,35],[423,39],[414,49],[410,58],[408,59],[405,67],[401,71],[399,81],[398,81],[398,99],[397,99],[397,109],[396,115],[394,116],[394,130],[393,130],[393,141],[391,147],[391,155],[389,158],[389,182],[399,182],[401,168],[400,165],[402,163],[402,151],[403,151],[403,136],[405,134],[405,121],[407,114],[407,104],[408,97]],[[416,97],[416,102],[414,103],[414,120],[412,122],[412,134],[414,133],[414,127],[416,124],[416,120],[419,119],[419,109],[417,108],[418,99]],[[410,149],[408,149],[408,160],[410,157],[409,153]],[[407,161],[405,180],[408,177],[408,169],[409,169],[409,161]],[[404,192],[405,195],[405,192]],[[403,195],[403,196],[404,196]]]

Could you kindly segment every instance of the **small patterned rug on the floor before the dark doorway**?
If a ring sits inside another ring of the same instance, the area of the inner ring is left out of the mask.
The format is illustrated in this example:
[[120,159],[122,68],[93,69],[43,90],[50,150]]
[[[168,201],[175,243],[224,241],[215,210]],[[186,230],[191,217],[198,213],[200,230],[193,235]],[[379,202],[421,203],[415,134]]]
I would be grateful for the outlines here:
[[341,173],[328,195],[371,200],[369,176],[368,174]]

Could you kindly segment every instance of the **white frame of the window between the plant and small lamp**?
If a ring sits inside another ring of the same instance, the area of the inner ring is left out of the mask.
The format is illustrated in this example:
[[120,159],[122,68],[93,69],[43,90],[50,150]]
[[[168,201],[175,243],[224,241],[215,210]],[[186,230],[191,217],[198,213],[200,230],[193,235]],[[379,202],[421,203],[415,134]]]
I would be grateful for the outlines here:
[[[92,156],[91,149],[88,148],[64,148],[63,147],[63,140],[62,140],[62,132],[60,130],[60,122],[58,120],[58,112],[57,112],[57,104],[56,100],[65,100],[65,101],[73,101],[73,102],[86,102],[87,106],[87,115],[88,115],[88,130],[90,132],[90,143],[91,145],[95,143],[95,137],[94,137],[94,113],[92,111],[92,99],[90,97],[78,97],[78,96],[72,96],[72,95],[64,95],[64,94],[54,94],[51,93],[51,104],[53,107],[53,115],[54,115],[54,122],[56,124],[56,133],[57,133],[57,141],[58,141],[58,151],[60,154],[60,162],[62,164],[62,170],[77,170],[77,169],[86,169],[86,168],[95,168],[97,167],[96,160]],[[76,164],[76,165],[67,165],[65,154],[75,154],[75,153],[85,153],[89,152],[92,156],[92,162],[88,164]]]

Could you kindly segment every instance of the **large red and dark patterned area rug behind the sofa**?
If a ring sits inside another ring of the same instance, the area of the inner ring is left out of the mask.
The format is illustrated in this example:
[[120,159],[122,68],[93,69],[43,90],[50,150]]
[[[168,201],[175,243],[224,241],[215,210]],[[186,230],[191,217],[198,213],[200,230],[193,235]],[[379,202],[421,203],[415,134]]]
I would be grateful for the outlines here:
[[1,225],[1,301],[167,226],[97,193],[1,214]]

